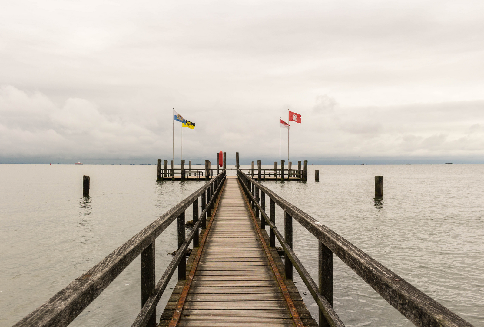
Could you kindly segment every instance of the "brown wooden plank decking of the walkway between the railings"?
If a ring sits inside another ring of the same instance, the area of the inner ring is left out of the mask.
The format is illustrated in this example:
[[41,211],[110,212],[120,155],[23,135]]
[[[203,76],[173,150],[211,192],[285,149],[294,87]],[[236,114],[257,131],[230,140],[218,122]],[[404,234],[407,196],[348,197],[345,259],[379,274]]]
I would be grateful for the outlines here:
[[[277,251],[271,253],[283,275]],[[293,282],[284,282],[304,326],[317,326]],[[177,284],[159,326],[169,325],[184,284]],[[295,326],[236,178],[227,178],[177,326]]]

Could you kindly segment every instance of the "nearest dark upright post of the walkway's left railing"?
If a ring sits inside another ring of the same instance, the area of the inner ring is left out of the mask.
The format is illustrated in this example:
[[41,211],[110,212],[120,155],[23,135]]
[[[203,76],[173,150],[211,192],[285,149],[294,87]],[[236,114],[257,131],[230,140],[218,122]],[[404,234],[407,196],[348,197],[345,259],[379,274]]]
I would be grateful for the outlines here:
[[[155,295],[155,253],[154,241],[141,252],[141,307],[143,307],[151,295]],[[156,309],[155,309],[156,310]],[[147,327],[155,327],[156,311],[151,314]]]

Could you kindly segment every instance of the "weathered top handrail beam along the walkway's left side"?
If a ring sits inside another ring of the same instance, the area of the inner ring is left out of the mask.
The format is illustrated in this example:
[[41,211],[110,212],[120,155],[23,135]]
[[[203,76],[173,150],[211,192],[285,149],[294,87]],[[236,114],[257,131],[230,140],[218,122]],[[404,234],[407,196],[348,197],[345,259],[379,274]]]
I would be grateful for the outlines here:
[[[211,188],[214,183],[218,182],[219,179],[224,179],[225,175],[225,170],[222,170],[220,174],[210,179],[210,181],[205,183],[197,191],[166,211],[158,219],[150,223],[136,233],[135,236],[108,254],[98,264],[69,283],[69,285],[61,289],[37,309],[30,312],[27,316],[17,322],[14,327],[69,325],[79,313],[91,304],[91,302],[166,229],[166,227],[184,213],[185,210],[198,200],[198,197],[202,195],[202,193],[205,193],[205,191]],[[222,183],[218,183],[219,188],[221,184]],[[215,196],[216,192],[212,194],[210,200],[213,201]],[[208,204],[210,204],[211,201],[208,201]],[[209,208],[209,206],[207,206],[207,208]],[[202,214],[207,211],[207,208],[203,210]],[[199,223],[200,220],[197,222],[197,227]],[[194,230],[195,228],[193,228],[192,233],[190,233],[191,238],[193,238]],[[188,239],[185,239],[185,243],[187,240]],[[177,253],[177,256],[173,258],[172,263],[177,260],[179,262],[182,257],[181,253]],[[168,268],[170,267],[171,266]]]

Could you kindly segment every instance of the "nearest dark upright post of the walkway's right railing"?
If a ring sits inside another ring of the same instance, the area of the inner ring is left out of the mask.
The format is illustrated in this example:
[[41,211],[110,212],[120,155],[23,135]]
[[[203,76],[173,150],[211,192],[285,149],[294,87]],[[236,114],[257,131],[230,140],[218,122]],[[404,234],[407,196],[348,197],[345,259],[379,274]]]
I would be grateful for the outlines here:
[[[318,262],[318,292],[326,297],[333,306],[333,252],[320,241],[319,243],[319,262]],[[319,310],[319,327],[329,327],[330,325]]]

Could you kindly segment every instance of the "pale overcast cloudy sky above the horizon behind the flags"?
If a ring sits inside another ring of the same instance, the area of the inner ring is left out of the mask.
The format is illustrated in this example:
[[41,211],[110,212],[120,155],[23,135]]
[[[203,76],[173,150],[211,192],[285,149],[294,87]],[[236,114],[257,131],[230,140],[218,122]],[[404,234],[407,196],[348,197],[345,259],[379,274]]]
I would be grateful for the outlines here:
[[483,17],[465,0],[3,0],[0,162],[170,159],[176,108],[197,124],[184,159],[269,163],[290,108],[291,160],[484,163]]

